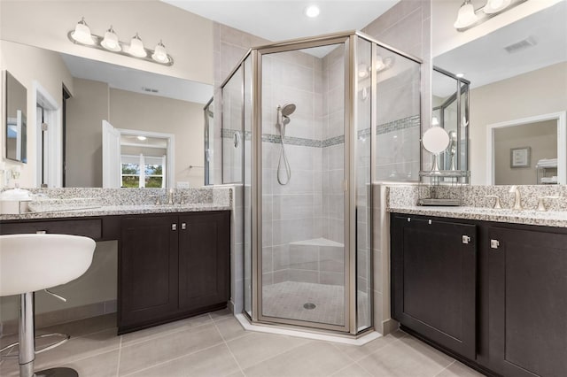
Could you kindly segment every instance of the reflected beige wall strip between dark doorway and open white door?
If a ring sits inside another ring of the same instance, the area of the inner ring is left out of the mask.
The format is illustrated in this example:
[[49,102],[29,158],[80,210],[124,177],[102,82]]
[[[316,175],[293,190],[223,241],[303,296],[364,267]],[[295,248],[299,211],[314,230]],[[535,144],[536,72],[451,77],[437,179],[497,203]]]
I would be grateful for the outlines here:
[[74,96],[67,100],[66,187],[103,185],[102,121],[110,116],[109,90],[105,82],[74,79]]

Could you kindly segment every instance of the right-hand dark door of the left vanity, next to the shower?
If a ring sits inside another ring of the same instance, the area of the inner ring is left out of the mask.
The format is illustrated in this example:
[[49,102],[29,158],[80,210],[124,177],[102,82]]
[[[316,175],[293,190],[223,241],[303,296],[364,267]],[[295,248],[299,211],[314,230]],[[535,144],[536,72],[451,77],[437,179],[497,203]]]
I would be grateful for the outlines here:
[[229,301],[229,212],[180,217],[179,305],[183,310]]

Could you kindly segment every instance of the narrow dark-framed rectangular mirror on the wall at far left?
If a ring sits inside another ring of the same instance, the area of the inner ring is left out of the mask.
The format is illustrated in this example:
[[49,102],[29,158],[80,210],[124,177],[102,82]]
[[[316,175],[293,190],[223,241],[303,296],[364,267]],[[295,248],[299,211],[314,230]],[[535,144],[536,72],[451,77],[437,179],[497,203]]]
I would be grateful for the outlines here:
[[5,73],[6,158],[27,163],[27,89],[11,73]]

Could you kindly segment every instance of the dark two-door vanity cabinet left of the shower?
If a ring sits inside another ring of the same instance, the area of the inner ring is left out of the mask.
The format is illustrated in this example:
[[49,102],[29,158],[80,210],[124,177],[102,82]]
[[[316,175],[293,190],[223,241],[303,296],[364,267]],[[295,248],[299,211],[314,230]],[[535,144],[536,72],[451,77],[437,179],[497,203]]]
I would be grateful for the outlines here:
[[226,307],[229,212],[121,221],[119,334]]

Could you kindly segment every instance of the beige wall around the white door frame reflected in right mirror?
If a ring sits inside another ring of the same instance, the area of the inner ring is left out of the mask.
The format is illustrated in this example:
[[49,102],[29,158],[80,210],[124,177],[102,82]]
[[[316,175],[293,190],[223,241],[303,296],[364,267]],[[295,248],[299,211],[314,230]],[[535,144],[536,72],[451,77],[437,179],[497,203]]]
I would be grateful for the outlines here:
[[470,90],[470,180],[486,182],[486,127],[567,110],[567,63]]

